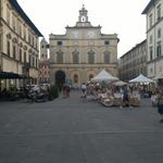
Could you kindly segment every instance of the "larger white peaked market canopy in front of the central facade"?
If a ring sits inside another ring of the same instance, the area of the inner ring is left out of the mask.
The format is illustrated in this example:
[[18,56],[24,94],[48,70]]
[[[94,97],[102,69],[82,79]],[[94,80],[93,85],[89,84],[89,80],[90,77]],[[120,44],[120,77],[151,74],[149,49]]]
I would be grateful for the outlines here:
[[105,70],[102,70],[97,76],[95,76],[92,82],[113,82],[118,80],[117,77],[112,76],[110,73],[108,73]]

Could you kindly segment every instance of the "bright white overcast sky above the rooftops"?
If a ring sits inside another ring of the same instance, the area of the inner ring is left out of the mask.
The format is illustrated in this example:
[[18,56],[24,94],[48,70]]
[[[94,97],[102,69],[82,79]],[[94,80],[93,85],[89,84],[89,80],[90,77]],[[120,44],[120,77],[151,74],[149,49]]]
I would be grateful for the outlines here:
[[22,9],[49,41],[50,34],[65,34],[78,21],[83,3],[91,25],[102,34],[117,34],[117,57],[146,39],[146,15],[150,0],[17,0]]

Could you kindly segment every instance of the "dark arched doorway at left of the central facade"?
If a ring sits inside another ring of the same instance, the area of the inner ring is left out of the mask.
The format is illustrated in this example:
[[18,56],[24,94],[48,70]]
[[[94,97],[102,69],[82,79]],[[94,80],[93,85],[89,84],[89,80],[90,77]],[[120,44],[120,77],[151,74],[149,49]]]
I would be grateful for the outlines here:
[[63,71],[58,71],[55,73],[55,84],[62,88],[65,83],[65,73]]

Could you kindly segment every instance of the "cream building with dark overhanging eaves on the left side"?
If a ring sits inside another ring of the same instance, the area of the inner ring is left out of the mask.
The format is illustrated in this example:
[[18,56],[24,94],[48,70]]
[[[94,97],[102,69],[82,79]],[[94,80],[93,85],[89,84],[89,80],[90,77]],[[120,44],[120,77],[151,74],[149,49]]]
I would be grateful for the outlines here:
[[[39,37],[42,36],[16,0],[0,0],[0,71],[38,80]],[[5,80],[10,85],[11,79]],[[14,80],[20,85],[20,80]]]

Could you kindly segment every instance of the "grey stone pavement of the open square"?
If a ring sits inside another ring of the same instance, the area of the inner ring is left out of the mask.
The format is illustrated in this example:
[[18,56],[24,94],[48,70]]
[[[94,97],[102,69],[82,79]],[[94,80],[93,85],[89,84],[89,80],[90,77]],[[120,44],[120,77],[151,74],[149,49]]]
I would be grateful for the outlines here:
[[104,108],[72,91],[50,102],[0,102],[0,163],[161,163],[156,108]]

